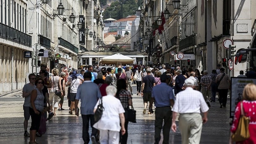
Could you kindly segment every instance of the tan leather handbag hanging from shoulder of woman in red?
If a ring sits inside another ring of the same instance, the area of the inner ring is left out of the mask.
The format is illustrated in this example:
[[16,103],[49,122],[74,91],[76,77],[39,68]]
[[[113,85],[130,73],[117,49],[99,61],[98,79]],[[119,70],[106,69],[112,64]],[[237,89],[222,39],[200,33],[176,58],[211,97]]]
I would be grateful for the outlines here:
[[231,137],[232,141],[244,141],[250,137],[249,122],[250,118],[244,115],[243,102],[241,101],[241,117],[239,118],[235,134]]

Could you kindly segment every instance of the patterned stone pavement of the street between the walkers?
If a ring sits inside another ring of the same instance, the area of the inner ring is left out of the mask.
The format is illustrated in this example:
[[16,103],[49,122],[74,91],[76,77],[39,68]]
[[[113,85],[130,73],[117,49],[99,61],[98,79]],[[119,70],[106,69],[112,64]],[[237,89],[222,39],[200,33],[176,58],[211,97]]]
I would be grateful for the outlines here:
[[[155,114],[143,115],[143,99],[136,95],[133,87],[133,105],[137,111],[137,123],[128,125],[129,144],[154,143]],[[23,137],[23,105],[22,92],[14,92],[0,96],[0,144],[27,144],[29,138]],[[64,111],[57,111],[56,116],[47,122],[47,132],[36,140],[40,144],[82,144],[82,117],[68,113],[68,101],[64,99]],[[147,111],[148,112],[148,111]],[[178,119],[177,119],[178,121]],[[219,108],[218,101],[211,103],[208,122],[203,125],[201,144],[226,144],[229,140],[229,100],[227,108]],[[30,127],[29,120],[28,127]],[[29,128],[28,128],[29,130]],[[160,141],[162,142],[162,140]],[[180,144],[178,131],[170,132],[170,144]]]

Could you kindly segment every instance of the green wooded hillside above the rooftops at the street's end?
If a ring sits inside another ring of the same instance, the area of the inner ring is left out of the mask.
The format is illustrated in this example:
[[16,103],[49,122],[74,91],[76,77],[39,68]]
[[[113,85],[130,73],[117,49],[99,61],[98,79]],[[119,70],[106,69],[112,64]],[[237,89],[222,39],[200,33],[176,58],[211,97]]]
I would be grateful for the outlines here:
[[[138,0],[140,3],[142,0]],[[103,12],[104,19],[113,18],[121,19],[129,15],[135,15],[135,10],[138,9],[138,5],[135,0],[120,0],[114,3],[111,3],[111,6],[105,9]]]

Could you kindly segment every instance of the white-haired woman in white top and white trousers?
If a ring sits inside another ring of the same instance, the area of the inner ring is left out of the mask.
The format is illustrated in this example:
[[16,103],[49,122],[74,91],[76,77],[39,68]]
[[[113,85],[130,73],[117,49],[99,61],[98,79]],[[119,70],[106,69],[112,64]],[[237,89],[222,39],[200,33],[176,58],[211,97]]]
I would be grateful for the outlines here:
[[[105,110],[102,113],[101,119],[93,127],[100,130],[101,144],[119,144],[120,129],[122,135],[125,134],[125,110],[120,100],[115,97],[116,87],[109,85],[106,87],[106,92],[107,96],[102,97],[102,105]],[[99,105],[99,101],[100,99],[94,107],[94,113]]]

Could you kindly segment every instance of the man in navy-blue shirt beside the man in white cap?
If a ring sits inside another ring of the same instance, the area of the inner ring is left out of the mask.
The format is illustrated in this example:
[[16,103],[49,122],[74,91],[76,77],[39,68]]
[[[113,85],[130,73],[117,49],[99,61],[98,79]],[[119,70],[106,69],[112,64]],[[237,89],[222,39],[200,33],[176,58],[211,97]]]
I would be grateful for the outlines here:
[[[152,89],[152,98],[155,99],[155,144],[161,139],[161,130],[163,128],[163,144],[169,143],[169,133],[172,124],[172,110],[174,105],[174,94],[172,87],[168,86],[171,77],[162,74],[161,84]],[[162,127],[164,120],[164,125]]]

